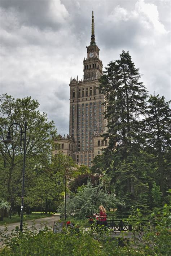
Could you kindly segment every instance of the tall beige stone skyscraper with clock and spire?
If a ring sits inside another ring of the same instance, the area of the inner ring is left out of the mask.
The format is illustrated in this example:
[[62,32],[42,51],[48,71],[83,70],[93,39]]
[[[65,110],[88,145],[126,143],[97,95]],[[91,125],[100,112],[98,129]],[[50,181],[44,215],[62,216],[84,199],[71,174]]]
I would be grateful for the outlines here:
[[78,76],[70,80],[70,123],[69,135],[55,140],[53,155],[59,151],[72,157],[77,164],[92,166],[92,160],[101,154],[108,141],[101,135],[105,131],[104,95],[98,88],[98,78],[102,75],[102,61],[95,42],[95,25],[92,12],[91,42],[87,46],[87,58],[83,60],[84,78]]

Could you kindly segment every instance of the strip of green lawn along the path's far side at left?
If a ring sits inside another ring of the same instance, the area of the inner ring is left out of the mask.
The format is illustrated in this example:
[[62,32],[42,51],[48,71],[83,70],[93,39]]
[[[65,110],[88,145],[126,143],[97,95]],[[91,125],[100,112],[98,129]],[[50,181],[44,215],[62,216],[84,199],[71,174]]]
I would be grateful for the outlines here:
[[[45,214],[45,213],[40,213],[40,212],[33,212],[31,214],[24,214],[23,215],[23,221],[29,221],[29,220],[36,220],[40,218],[46,218],[46,217],[52,217],[52,214]],[[20,216],[18,215],[12,215],[11,219],[4,218],[4,221],[0,221],[0,226],[5,225],[5,224],[10,224],[10,223],[16,223],[20,222]]]

